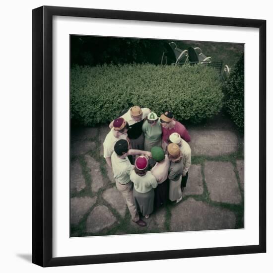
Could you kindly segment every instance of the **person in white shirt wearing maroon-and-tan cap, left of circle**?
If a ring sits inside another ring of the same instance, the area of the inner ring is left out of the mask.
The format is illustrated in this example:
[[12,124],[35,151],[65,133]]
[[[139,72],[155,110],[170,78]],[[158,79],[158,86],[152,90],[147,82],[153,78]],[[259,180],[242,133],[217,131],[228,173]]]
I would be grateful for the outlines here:
[[113,122],[113,128],[105,137],[103,142],[103,157],[111,169],[111,156],[114,151],[114,145],[119,139],[127,139],[128,129],[128,122],[126,122],[123,118],[115,119]]

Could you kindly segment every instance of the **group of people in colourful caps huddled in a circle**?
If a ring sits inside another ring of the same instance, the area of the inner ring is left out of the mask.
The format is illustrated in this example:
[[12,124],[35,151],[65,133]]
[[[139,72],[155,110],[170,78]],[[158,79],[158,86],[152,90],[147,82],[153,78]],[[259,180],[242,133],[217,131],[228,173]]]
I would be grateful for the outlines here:
[[168,200],[182,200],[191,166],[191,137],[172,112],[159,118],[139,106],[130,108],[109,127],[103,143],[104,158],[132,220],[146,226],[141,214],[149,218]]

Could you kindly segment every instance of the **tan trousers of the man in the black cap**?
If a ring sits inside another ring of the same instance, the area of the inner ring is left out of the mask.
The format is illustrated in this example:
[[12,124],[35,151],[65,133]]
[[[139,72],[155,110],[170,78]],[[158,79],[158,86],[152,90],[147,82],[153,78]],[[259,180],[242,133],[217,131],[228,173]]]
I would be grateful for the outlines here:
[[136,211],[136,206],[134,203],[133,182],[130,181],[129,183],[123,185],[116,181],[116,186],[117,186],[117,189],[121,192],[123,198],[125,199],[127,203],[127,206],[132,216],[132,220],[134,222],[137,222],[139,220],[139,215]]

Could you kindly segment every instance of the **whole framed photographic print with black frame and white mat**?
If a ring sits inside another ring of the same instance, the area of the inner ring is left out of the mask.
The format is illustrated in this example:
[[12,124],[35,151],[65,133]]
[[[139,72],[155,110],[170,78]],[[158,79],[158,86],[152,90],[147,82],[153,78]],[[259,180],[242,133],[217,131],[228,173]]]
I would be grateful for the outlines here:
[[34,9],[33,263],[262,252],[266,21]]

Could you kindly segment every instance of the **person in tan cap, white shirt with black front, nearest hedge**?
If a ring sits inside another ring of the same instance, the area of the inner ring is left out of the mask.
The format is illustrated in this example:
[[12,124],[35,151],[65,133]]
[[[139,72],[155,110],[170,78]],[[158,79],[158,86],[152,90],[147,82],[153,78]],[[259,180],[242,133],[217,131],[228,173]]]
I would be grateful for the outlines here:
[[[142,125],[144,119],[150,113],[148,108],[140,108],[139,106],[131,107],[127,113],[121,116],[129,124],[129,130],[127,132],[130,146],[132,149],[144,149],[144,134],[142,132]],[[114,121],[109,125],[113,127]],[[135,162],[135,158],[130,158],[131,163]]]

